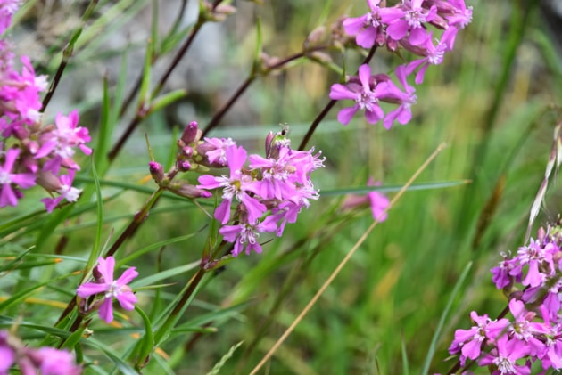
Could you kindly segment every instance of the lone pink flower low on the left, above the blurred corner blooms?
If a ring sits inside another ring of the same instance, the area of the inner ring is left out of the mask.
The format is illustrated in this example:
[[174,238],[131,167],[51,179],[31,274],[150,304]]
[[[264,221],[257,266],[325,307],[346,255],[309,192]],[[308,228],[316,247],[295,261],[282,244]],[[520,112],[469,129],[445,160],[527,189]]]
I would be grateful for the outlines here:
[[113,321],[113,298],[117,298],[121,307],[125,310],[133,310],[136,304],[136,296],[127,286],[138,273],[135,267],[128,268],[119,279],[113,280],[115,259],[113,257],[99,257],[97,259],[97,271],[101,273],[99,282],[87,282],[79,286],[77,294],[80,298],[87,298],[98,293],[103,293],[103,303],[99,309],[100,318],[105,322]]

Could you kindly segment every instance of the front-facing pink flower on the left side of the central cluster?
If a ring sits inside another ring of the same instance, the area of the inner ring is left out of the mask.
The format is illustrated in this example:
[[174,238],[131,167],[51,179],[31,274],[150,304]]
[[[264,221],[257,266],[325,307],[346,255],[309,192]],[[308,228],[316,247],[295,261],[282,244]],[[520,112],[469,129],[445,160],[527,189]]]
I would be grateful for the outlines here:
[[227,163],[230,168],[230,176],[221,175],[202,175],[199,177],[197,189],[217,189],[224,188],[222,202],[215,209],[215,219],[220,224],[227,224],[230,218],[230,206],[232,200],[242,202],[248,211],[248,220],[254,222],[266,211],[266,207],[259,200],[251,197],[246,191],[252,183],[252,176],[244,174],[242,167],[246,161],[247,152],[243,147],[235,145],[227,147]]

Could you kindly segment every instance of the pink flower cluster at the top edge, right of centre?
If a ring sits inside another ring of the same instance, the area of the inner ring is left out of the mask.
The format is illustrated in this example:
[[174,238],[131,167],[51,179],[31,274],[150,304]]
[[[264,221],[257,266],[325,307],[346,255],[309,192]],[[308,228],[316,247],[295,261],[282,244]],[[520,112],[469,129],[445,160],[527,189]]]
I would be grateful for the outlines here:
[[[419,85],[429,65],[442,63],[444,54],[452,50],[459,29],[472,20],[472,7],[467,7],[464,0],[404,0],[393,7],[386,7],[386,2],[381,0],[367,0],[367,3],[370,12],[343,20],[343,29],[356,36],[357,45],[363,48],[386,45],[391,52],[402,47],[420,58],[395,69],[403,90],[387,75],[371,75],[368,65],[362,65],[357,77],[349,78],[345,85],[332,86],[330,98],[355,102],[338,113],[338,121],[344,125],[358,110],[364,110],[369,124],[384,118],[384,127],[390,129],[394,121],[402,125],[409,122],[410,107],[417,101],[416,90],[408,85],[407,77],[417,71],[415,81]],[[443,30],[439,39],[428,29],[430,25]],[[384,116],[379,102],[398,104],[398,108]]]

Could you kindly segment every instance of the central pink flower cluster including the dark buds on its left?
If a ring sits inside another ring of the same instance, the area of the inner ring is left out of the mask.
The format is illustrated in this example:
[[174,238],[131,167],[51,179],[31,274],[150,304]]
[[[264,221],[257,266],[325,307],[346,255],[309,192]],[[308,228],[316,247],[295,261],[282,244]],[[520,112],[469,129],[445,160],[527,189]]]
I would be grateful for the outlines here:
[[[321,152],[291,149],[285,130],[266,138],[266,156],[250,155],[230,138],[204,138],[195,121],[178,140],[176,165],[164,173],[159,163],[151,161],[151,175],[161,188],[187,198],[210,198],[221,190],[221,202],[214,217],[223,226],[224,240],[234,243],[232,254],[244,251],[260,253],[260,233],[275,232],[281,236],[285,224],[295,223],[302,208],[318,199],[310,174],[324,167]],[[246,162],[248,165],[246,166]],[[186,180],[173,181],[178,172],[201,171],[228,167],[227,175],[201,175],[199,184]],[[232,208],[235,208],[234,215]],[[229,222],[232,224],[227,225]]]

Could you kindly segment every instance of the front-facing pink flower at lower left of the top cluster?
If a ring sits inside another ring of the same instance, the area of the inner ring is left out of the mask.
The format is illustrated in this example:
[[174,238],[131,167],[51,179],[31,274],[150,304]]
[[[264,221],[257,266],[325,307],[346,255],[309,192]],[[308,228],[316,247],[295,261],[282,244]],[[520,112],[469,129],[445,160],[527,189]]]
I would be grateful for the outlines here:
[[374,90],[371,89],[371,68],[367,64],[360,66],[359,79],[360,84],[355,82],[349,82],[347,85],[335,84],[330,89],[330,99],[355,101],[355,105],[344,108],[337,114],[337,120],[343,125],[349,124],[358,110],[365,110],[365,118],[369,124],[376,124],[384,117],[378,99],[384,94],[384,88],[387,86],[376,85]]

